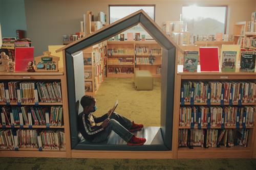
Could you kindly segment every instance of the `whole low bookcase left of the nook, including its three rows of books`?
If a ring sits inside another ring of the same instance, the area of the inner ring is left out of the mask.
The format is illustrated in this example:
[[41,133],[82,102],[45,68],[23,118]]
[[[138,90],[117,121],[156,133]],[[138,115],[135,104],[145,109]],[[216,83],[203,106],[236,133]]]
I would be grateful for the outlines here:
[[65,74],[0,75],[0,156],[70,157]]

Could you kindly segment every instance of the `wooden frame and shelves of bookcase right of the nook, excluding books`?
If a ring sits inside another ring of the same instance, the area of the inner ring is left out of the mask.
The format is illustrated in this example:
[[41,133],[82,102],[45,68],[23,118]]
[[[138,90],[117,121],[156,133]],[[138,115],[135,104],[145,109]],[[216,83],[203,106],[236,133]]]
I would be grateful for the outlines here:
[[[252,82],[256,82],[256,75],[254,72],[182,72],[180,66],[177,66],[177,75],[175,79],[175,99],[180,99],[181,96],[181,87],[183,81],[247,81],[250,80]],[[185,106],[190,106],[190,102],[185,102]],[[184,147],[180,148],[178,143],[178,136],[179,130],[181,129],[193,129],[190,126],[180,126],[180,107],[181,101],[175,100],[174,103],[174,122],[173,122],[173,151],[174,157],[178,159],[184,158],[252,158],[255,155],[256,151],[256,129],[255,129],[255,120],[256,120],[256,113],[255,113],[255,105],[256,103],[242,103],[242,107],[244,106],[252,106],[254,107],[254,126],[246,126],[246,129],[249,129],[249,136],[248,136],[248,145],[247,147],[242,147],[236,145],[234,147],[224,147],[220,146],[220,148],[214,147],[193,147],[193,149]],[[207,106],[207,103],[194,103],[194,106]],[[221,103],[213,103],[211,102],[209,106],[221,106]],[[228,107],[229,103],[224,103],[223,107]],[[233,107],[238,107],[238,103],[232,103]],[[201,129],[221,129],[220,126],[210,126],[210,127],[201,127]],[[224,129],[242,129],[242,126],[224,126]],[[197,126],[194,129],[199,129]]]

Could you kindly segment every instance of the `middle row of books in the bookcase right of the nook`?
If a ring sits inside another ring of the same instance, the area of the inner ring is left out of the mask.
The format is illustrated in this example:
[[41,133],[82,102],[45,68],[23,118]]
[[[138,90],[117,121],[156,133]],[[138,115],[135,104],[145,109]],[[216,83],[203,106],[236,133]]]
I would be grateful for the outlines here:
[[224,129],[225,126],[248,128],[254,126],[254,111],[254,106],[181,106],[179,126],[198,129]]

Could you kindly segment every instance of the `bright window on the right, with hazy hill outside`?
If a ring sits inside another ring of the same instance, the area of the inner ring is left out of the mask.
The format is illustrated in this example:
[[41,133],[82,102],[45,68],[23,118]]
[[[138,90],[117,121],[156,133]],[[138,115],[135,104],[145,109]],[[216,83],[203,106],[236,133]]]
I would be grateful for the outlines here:
[[226,6],[182,7],[182,20],[187,24],[187,31],[194,35],[225,34],[226,11]]

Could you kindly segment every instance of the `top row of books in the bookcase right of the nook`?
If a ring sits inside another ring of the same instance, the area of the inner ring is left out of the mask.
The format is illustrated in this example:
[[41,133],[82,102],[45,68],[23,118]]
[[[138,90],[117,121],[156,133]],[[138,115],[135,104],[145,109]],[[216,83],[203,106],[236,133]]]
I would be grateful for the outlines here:
[[251,81],[183,81],[181,94],[182,103],[255,103],[256,83]]

